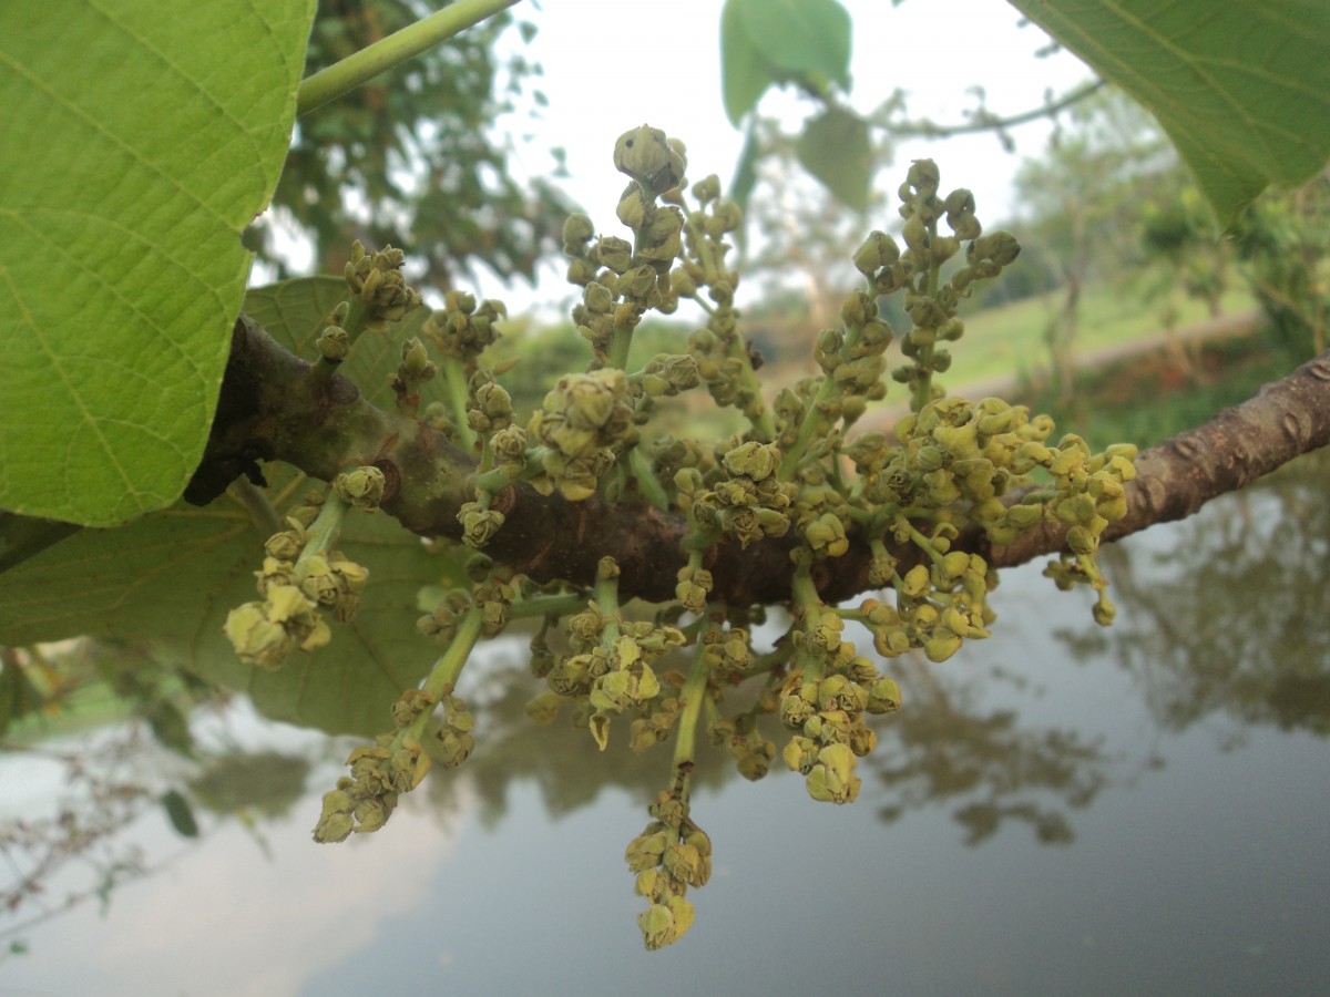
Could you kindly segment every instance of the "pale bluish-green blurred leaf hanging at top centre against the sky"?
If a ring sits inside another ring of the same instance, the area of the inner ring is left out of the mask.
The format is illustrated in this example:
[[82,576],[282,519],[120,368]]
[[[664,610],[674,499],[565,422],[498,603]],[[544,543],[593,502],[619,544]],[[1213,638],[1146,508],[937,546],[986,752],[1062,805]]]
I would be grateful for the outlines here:
[[837,0],[726,0],[721,78],[733,125],[771,84],[850,88],[850,16]]

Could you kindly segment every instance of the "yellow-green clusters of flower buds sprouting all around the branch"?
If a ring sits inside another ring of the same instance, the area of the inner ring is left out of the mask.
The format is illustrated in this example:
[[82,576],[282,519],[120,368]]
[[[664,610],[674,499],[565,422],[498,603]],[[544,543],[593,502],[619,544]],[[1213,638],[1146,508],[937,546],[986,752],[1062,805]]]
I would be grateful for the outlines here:
[[[813,799],[854,800],[857,760],[876,743],[867,717],[896,710],[900,689],[849,639],[846,623],[861,625],[882,659],[918,651],[946,661],[967,639],[988,635],[988,594],[998,584],[982,556],[954,549],[958,537],[978,529],[1001,546],[1057,524],[1067,549],[1048,574],[1060,588],[1092,586],[1095,618],[1107,625],[1113,608],[1096,552],[1109,522],[1127,512],[1136,449],[1092,453],[1079,436],[1055,439],[1052,420],[1024,407],[943,392],[935,378],[964,334],[962,299],[1020,247],[1009,233],[983,231],[968,190],[943,194],[931,161],[914,162],[899,189],[900,235],[874,231],[854,254],[863,284],[846,296],[839,324],[815,339],[821,375],[770,399],[734,306],[739,274],[726,261],[739,207],[721,195],[714,175],[689,185],[682,144],[658,129],[620,137],[614,165],[630,179],[616,211],[630,238],[598,235],[580,214],[563,233],[568,280],[581,291],[572,316],[591,347],[585,372],[560,378],[520,419],[499,383],[503,371],[483,363],[504,307],[456,291],[424,322],[422,338],[402,347],[392,382],[399,409],[477,460],[473,498],[458,514],[473,585],[450,592],[422,618],[420,633],[444,650],[422,687],[407,690],[384,718],[387,732],[351,752],[350,775],[325,796],[315,837],[378,830],[431,763],[451,767],[471,754],[472,714],[454,693],[463,666],[479,639],[513,617],[535,617],[541,623],[531,663],[545,690],[528,705],[533,719],[567,710],[602,750],[620,724],[634,751],[673,739],[668,788],[625,853],[648,904],[642,936],[656,949],[688,931],[688,889],[704,885],[712,868],[710,840],[689,803],[698,731],[747,779],[761,779],[779,755]],[[327,376],[362,331],[383,334],[419,304],[402,262],[398,250],[371,254],[356,245],[347,302],[325,322],[323,363],[311,376]],[[888,371],[895,331],[878,302],[891,294],[903,295],[911,327],[900,336],[906,363]],[[642,318],[673,314],[685,299],[702,324],[680,352],[633,368]],[[420,388],[435,378],[443,400],[422,412]],[[908,392],[910,413],[886,432],[857,431],[891,382]],[[700,386],[717,405],[738,411],[746,429],[718,443],[650,432],[658,399]],[[475,553],[503,530],[496,498],[517,481],[573,502],[645,502],[686,520],[677,601],[646,619],[626,613],[618,565],[608,557],[589,590],[555,592]],[[355,614],[368,572],[335,541],[343,516],[374,509],[382,495],[382,473],[355,468],[290,513],[257,573],[262,601],[226,622],[245,661],[278,667],[327,643],[330,619]],[[714,601],[708,553],[730,542],[730,556],[741,557],[755,541],[789,536],[791,622],[785,638],[759,651],[751,633],[763,608]],[[817,573],[851,542],[871,550],[875,590],[857,605],[829,605]],[[686,674],[669,669],[682,649],[692,654]],[[783,727],[783,744],[762,732],[763,715]]]

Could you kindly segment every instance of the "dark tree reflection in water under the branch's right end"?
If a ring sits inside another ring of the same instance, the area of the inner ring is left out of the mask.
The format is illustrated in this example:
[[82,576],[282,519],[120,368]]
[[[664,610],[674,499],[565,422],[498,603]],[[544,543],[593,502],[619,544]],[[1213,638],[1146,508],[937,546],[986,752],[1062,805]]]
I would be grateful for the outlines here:
[[1107,646],[1164,730],[1209,717],[1330,735],[1330,459],[1309,455],[1210,502],[1168,546],[1109,545],[1123,610],[1077,657]]

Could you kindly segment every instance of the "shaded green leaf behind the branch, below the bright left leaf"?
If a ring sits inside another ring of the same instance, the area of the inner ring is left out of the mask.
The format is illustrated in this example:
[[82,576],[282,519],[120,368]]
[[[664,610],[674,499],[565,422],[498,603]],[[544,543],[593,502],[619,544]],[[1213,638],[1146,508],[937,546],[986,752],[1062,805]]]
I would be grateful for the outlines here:
[[[291,280],[251,291],[245,310],[311,356],[319,316],[343,290],[326,278]],[[398,343],[366,335],[344,364],[378,404],[392,404],[387,374],[400,360]],[[318,484],[290,469],[267,471],[278,509]],[[455,569],[391,517],[348,516],[338,546],[370,569],[360,613],[334,625],[327,647],[263,671],[242,663],[222,634],[226,613],[258,597],[253,573],[262,542],[262,530],[229,495],[203,509],[177,504],[120,529],[85,529],[0,574],[0,643],[76,634],[133,641],[164,662],[247,691],[277,719],[360,734],[384,728],[391,702],[438,653],[415,633],[416,594],[440,576],[455,578]]]

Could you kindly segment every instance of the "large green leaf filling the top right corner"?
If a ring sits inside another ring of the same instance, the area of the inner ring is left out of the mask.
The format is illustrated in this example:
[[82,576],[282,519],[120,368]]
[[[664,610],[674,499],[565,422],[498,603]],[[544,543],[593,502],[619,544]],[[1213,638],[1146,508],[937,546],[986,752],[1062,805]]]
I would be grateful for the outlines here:
[[1330,158],[1325,0],[1012,0],[1148,108],[1229,226]]

